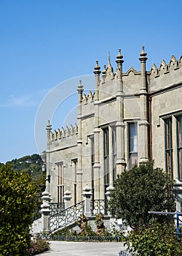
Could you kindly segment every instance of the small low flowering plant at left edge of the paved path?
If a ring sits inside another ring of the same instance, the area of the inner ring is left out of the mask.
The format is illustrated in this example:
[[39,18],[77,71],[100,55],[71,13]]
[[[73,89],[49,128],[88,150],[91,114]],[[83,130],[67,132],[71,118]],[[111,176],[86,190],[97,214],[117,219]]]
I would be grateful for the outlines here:
[[44,240],[31,241],[30,249],[27,249],[27,255],[37,255],[41,252],[47,252],[50,250],[50,244]]

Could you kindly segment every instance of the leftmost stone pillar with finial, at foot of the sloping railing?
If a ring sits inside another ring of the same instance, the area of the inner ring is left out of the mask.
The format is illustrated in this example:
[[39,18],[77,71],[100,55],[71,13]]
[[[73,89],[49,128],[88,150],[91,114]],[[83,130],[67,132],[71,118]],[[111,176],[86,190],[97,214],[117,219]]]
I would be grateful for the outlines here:
[[45,190],[42,192],[42,204],[41,204],[41,222],[42,222],[42,231],[48,231],[49,230],[49,217],[50,217],[50,193]]

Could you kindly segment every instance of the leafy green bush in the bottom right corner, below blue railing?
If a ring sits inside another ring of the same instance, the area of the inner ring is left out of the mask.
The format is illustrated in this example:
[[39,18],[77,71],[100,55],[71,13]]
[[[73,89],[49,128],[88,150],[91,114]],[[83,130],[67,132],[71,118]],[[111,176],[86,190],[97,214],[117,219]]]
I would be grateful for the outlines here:
[[177,238],[174,225],[154,223],[145,230],[142,228],[130,233],[127,246],[130,252],[138,252],[142,256],[179,256],[182,246]]

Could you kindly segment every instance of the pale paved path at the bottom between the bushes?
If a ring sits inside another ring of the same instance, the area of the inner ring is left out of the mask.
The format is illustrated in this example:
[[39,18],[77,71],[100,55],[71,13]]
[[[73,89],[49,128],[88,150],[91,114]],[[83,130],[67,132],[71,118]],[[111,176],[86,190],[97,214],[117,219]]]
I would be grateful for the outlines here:
[[66,241],[50,241],[51,250],[41,256],[118,256],[123,243],[79,243]]

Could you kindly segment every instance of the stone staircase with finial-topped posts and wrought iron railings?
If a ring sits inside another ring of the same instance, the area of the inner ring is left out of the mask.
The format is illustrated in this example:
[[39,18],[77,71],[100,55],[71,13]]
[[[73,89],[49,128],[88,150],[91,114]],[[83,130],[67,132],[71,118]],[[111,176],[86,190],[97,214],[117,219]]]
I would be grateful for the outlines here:
[[[50,193],[46,190],[42,193],[41,204],[41,218],[36,219],[32,225],[32,232],[41,233],[46,231],[48,233],[55,233],[64,227],[73,227],[76,221],[79,220],[81,214],[86,217],[93,217],[94,215],[102,213],[104,216],[109,216],[107,211],[107,200],[91,200],[92,193],[90,187],[84,187],[82,193],[84,200],[76,203],[74,206],[69,206],[70,192],[66,191],[64,197],[66,203],[50,203]],[[107,192],[108,193],[108,192]],[[68,195],[69,194],[69,195]],[[68,199],[68,200],[66,200]]]

